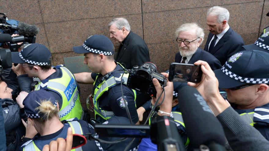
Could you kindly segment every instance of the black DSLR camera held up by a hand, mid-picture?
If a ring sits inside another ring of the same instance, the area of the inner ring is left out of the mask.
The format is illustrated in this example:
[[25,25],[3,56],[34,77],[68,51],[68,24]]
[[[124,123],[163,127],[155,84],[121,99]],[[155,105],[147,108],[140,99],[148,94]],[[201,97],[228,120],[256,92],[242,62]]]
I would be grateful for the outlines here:
[[166,78],[162,74],[157,73],[155,64],[146,62],[140,67],[134,66],[128,77],[127,86],[139,92],[156,97],[156,89],[152,79],[156,78],[162,87],[166,85]]

